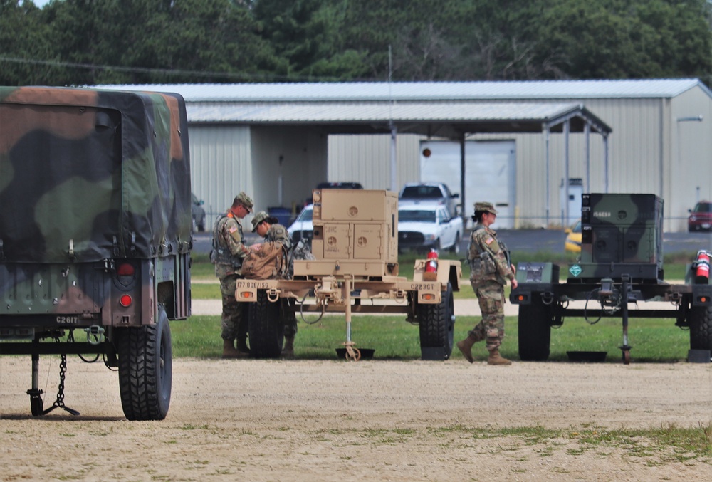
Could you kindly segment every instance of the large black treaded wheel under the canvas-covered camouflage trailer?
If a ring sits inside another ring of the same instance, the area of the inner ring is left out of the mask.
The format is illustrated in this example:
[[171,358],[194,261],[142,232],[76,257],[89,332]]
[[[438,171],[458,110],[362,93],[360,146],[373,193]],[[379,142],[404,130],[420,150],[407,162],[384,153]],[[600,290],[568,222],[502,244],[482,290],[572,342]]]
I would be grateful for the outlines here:
[[117,328],[121,407],[129,420],[162,420],[171,403],[171,328],[163,305],[155,325]]

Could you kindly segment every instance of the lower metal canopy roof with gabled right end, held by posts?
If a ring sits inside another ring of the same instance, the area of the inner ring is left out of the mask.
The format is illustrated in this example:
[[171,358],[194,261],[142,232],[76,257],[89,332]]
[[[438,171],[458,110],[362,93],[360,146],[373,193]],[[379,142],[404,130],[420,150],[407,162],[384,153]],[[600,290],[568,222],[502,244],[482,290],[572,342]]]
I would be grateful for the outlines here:
[[462,132],[571,132],[611,129],[583,105],[575,103],[189,103],[192,123],[247,125],[319,125],[331,134],[398,132],[459,137]]

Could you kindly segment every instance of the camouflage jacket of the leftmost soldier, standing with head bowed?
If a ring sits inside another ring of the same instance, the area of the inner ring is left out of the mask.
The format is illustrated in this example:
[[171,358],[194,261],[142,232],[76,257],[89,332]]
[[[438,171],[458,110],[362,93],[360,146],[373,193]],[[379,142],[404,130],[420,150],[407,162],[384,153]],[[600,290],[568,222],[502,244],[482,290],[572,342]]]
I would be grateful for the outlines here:
[[228,212],[223,214],[213,226],[213,251],[210,261],[215,264],[215,276],[224,278],[230,274],[240,274],[242,260],[250,253],[243,243],[242,224]]

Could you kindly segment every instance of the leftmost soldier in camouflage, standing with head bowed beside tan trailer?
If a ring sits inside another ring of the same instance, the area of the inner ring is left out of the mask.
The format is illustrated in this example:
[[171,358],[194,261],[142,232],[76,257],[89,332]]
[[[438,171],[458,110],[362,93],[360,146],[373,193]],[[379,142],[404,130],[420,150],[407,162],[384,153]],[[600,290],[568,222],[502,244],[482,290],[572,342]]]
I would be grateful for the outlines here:
[[215,264],[215,276],[220,278],[223,358],[242,358],[249,355],[246,307],[235,299],[235,281],[241,278],[242,260],[250,252],[244,244],[240,220],[252,212],[252,206],[252,199],[241,192],[235,197],[226,214],[221,214],[216,219],[213,227],[213,251],[210,253],[210,261]]

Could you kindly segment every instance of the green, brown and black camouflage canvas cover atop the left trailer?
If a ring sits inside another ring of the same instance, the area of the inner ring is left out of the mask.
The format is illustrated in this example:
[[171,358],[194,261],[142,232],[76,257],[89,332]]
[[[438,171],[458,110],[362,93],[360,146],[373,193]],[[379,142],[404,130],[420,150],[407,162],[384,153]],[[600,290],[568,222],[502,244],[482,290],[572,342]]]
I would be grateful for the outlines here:
[[178,94],[0,87],[0,262],[187,253],[189,169]]

